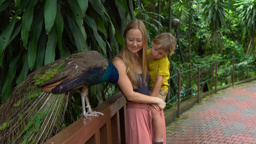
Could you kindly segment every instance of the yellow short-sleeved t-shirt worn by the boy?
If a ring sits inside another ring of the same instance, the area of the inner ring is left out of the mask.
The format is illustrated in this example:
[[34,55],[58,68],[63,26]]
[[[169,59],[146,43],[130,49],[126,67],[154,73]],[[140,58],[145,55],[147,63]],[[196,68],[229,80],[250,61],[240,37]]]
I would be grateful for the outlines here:
[[151,53],[151,50],[148,50],[148,64],[149,64],[148,73],[150,75],[148,85],[154,87],[156,83],[156,75],[159,74],[161,76],[164,76],[162,86],[160,89],[168,92],[168,86],[169,86],[168,79],[170,77],[170,72],[169,72],[170,62],[167,56],[164,56],[161,59],[157,59],[157,60],[150,60],[150,53]]

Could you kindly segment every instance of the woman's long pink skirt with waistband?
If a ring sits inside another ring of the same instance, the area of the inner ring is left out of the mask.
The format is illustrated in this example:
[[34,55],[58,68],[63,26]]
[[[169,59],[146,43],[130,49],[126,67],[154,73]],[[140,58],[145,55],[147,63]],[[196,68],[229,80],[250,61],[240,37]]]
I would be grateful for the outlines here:
[[152,144],[152,134],[150,106],[126,102],[127,144]]

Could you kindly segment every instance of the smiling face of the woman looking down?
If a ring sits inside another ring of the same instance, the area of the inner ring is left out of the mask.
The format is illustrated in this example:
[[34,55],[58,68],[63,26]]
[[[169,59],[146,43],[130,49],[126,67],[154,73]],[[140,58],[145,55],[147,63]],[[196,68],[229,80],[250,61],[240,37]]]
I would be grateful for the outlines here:
[[130,29],[126,34],[125,41],[129,52],[136,54],[143,47],[143,34],[139,29]]

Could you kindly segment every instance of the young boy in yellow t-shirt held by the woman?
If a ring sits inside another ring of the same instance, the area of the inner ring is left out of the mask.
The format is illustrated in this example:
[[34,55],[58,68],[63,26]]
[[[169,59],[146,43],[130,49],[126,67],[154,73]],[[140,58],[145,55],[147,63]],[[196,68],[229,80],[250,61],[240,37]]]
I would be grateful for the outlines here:
[[[176,39],[170,33],[162,33],[153,40],[151,50],[148,50],[149,62],[149,91],[151,96],[157,96],[165,100],[168,93],[168,78],[170,77],[170,62],[167,58],[168,54],[173,54],[176,46]],[[163,144],[165,128],[163,130],[164,112],[155,109],[156,104],[151,104],[153,127],[154,127],[154,144]],[[162,117],[161,117],[162,116]],[[162,119],[163,118],[163,119]],[[164,124],[165,125],[165,124]],[[165,136],[164,136],[165,137]]]

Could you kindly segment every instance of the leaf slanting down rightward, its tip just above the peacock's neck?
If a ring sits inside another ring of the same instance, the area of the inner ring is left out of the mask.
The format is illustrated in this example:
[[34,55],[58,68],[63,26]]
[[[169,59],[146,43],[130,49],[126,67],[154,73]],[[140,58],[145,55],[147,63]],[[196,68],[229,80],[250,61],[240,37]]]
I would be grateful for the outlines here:
[[95,36],[95,39],[97,40],[97,42],[99,43],[101,49],[103,50],[105,56],[107,55],[107,51],[106,51],[106,43],[104,42],[104,40],[102,40],[102,38],[100,37],[100,35],[98,34],[97,31],[97,27],[96,27],[96,23],[94,21],[94,19],[92,19],[90,16],[85,15],[85,22],[88,26],[90,26],[90,28],[92,28],[93,30],[93,34]]

